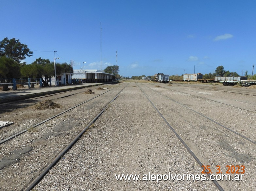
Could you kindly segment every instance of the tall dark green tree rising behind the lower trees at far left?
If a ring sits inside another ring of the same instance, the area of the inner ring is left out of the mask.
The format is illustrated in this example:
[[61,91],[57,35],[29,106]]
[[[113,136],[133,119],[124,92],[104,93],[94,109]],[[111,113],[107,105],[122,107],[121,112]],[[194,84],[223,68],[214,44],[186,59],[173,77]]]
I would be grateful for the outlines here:
[[33,52],[27,48],[27,45],[22,44],[19,39],[8,39],[7,37],[0,41],[0,56],[6,56],[20,63],[25,60],[26,56],[32,56]]

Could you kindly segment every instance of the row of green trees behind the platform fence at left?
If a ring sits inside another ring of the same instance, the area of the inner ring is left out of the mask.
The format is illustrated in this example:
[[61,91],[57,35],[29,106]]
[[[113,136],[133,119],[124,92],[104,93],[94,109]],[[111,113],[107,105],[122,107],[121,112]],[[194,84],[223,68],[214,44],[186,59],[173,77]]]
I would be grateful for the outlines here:
[[[0,78],[50,78],[54,76],[54,62],[49,59],[37,58],[31,64],[21,63],[26,57],[32,56],[33,52],[22,44],[19,39],[0,41]],[[56,74],[73,73],[71,65],[56,63]]]

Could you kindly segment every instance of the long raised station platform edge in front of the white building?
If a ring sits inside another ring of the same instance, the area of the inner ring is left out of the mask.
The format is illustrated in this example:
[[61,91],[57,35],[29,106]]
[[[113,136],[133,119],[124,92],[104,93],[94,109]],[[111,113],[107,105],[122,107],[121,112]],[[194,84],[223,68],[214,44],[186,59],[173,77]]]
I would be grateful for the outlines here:
[[78,85],[76,84],[76,85],[67,85],[67,86],[51,86],[51,87],[43,87],[43,88],[39,88],[35,86],[35,88],[31,88],[31,89],[28,89],[28,87],[25,86],[25,88],[18,89],[18,90],[0,91],[0,103],[23,100],[23,99],[39,97],[47,94],[49,95],[49,94],[54,94],[54,93],[59,93],[64,91],[75,90],[75,89],[82,89],[85,87],[98,86],[101,84],[105,84],[105,83],[83,83]]

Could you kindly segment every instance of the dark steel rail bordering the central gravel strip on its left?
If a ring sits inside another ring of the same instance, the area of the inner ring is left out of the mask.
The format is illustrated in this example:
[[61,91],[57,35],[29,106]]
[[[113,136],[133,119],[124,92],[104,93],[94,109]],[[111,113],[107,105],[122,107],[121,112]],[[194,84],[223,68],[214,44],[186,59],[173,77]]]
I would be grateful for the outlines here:
[[72,147],[73,145],[78,141],[78,139],[83,135],[83,133],[101,116],[101,114],[106,110],[106,108],[109,106],[111,102],[113,102],[119,94],[128,86],[128,84],[115,96],[113,100],[111,100],[101,111],[100,113],[94,117],[94,119],[77,135],[75,139],[73,139],[72,142],[69,143],[68,146],[66,146],[60,154],[53,160],[53,162],[48,165],[48,167],[26,188],[25,191],[30,191],[32,190],[42,179],[43,177],[48,173],[49,170],[51,170],[61,159],[61,157],[66,154]]

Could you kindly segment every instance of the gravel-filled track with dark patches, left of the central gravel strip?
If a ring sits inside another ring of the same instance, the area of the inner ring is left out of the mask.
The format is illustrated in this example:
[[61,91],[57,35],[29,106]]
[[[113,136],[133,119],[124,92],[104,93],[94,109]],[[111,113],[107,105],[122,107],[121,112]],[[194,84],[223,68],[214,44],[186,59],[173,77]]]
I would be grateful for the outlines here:
[[[12,172],[12,167],[22,165],[22,167],[20,167],[18,170],[20,176],[21,174],[25,173],[21,170],[24,168],[23,166],[30,166],[33,164],[33,166],[36,166],[35,170],[33,170],[29,176],[26,177],[26,179],[24,179],[23,176],[23,180],[22,178],[19,180],[24,181],[22,185],[19,185],[21,187],[9,188],[21,190],[25,189],[26,185],[30,184],[33,179],[38,177],[38,174],[41,174],[48,164],[52,162],[52,159],[55,156],[60,154],[58,157],[61,157],[63,155],[61,154],[63,153],[63,149],[70,148],[71,145],[76,142],[75,139],[77,140],[79,137],[81,137],[82,132],[86,131],[86,129],[93,124],[97,117],[103,113],[106,107],[120,94],[124,88],[125,86],[121,85],[115,89],[110,89],[107,91],[108,93],[104,92],[103,94],[100,94],[85,102],[81,102],[75,107],[69,108],[58,115],[42,121],[31,131],[26,130],[19,136],[14,137],[14,139],[5,140],[2,142],[0,145],[0,169],[2,169],[0,173],[2,175],[0,176],[3,180],[0,183],[0,188],[2,188],[1,190],[5,190],[4,187],[6,184],[4,182],[4,178],[8,178],[8,175],[6,175],[4,173],[5,171],[3,171],[5,168],[8,168],[9,173],[15,176],[17,171]],[[102,97],[103,95],[106,96]],[[88,104],[89,101],[91,101],[91,105]],[[85,111],[86,115],[84,115]],[[74,137],[76,138],[74,139]],[[38,152],[40,152],[40,157],[45,158],[40,162],[38,162],[37,159]],[[25,164],[20,164],[20,158],[24,156],[26,156],[28,160],[23,159]],[[7,180],[5,179],[5,181]]]

